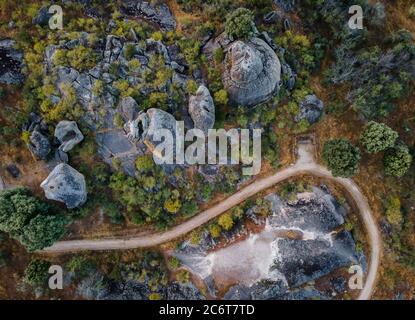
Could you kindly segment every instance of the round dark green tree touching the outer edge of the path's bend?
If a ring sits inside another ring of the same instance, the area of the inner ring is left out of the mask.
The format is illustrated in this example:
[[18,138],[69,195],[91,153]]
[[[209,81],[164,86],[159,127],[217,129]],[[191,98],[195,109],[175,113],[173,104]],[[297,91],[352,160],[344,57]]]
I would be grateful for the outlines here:
[[323,147],[323,160],[334,176],[351,177],[359,167],[359,148],[345,139],[327,141]]

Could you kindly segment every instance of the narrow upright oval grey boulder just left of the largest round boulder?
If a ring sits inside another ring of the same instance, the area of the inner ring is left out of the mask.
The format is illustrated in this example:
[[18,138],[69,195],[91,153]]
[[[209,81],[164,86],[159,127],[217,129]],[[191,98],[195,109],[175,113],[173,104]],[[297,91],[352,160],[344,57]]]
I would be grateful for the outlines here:
[[202,130],[206,135],[215,124],[215,105],[209,89],[200,86],[194,96],[189,98],[189,114],[194,127]]

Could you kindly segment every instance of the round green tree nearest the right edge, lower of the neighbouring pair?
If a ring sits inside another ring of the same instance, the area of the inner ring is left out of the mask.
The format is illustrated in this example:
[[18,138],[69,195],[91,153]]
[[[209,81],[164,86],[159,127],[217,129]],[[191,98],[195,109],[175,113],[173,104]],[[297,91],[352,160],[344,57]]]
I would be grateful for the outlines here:
[[399,144],[387,151],[383,166],[387,175],[403,177],[412,164],[412,155],[404,144]]

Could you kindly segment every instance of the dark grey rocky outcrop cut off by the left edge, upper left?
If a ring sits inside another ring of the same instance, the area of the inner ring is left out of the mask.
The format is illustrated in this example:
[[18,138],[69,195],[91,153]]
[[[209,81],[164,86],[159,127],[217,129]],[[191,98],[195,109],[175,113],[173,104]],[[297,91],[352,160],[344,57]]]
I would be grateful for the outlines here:
[[14,48],[15,44],[11,39],[0,40],[0,83],[21,84],[24,80],[23,53]]

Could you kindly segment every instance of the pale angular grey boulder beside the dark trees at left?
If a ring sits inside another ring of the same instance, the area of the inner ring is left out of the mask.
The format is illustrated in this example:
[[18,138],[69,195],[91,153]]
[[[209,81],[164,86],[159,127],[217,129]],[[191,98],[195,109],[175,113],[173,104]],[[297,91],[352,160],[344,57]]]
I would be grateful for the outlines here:
[[65,163],[57,165],[40,186],[46,198],[63,202],[68,209],[82,206],[87,199],[84,176]]

